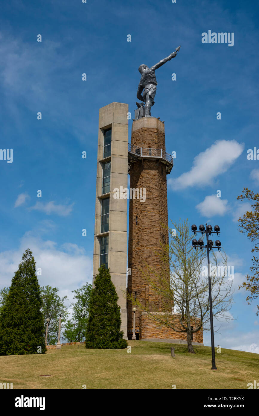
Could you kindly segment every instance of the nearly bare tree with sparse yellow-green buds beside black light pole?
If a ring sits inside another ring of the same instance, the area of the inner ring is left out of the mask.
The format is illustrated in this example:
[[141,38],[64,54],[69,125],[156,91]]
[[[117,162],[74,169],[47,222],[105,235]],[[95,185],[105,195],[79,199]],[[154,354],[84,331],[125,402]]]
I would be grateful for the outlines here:
[[[163,307],[151,307],[146,302],[134,300],[129,294],[128,299],[146,312],[150,319],[161,326],[167,326],[175,332],[187,335],[188,352],[195,353],[192,346],[192,334],[200,329],[210,330],[210,303],[207,267],[204,266],[206,251],[196,250],[192,247],[193,235],[190,235],[188,220],[180,220],[173,223],[173,230],[168,228],[172,239],[169,245],[162,245],[165,262],[164,272],[158,274],[148,265],[148,273],[143,272],[143,279],[159,294],[163,301]],[[174,235],[175,234],[175,235]],[[170,272],[168,275],[168,257]],[[220,259],[221,257],[221,259]],[[217,320],[233,319],[227,312],[232,305],[232,277],[227,279],[227,255],[223,252],[220,256],[212,253],[211,263],[211,288],[213,316]],[[150,275],[155,276],[151,279]],[[161,303],[160,303],[161,305]],[[173,306],[173,308],[172,308]],[[167,312],[161,312],[163,311]],[[172,309],[174,311],[172,311]]]

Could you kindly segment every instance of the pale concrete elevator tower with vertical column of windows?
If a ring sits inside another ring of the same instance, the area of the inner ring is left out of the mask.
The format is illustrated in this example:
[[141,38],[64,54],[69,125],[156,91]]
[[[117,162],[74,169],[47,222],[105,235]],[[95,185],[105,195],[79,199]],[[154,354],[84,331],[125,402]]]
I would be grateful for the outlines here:
[[93,283],[105,264],[121,307],[121,330],[127,337],[127,199],[113,198],[128,183],[128,104],[113,102],[99,110]]

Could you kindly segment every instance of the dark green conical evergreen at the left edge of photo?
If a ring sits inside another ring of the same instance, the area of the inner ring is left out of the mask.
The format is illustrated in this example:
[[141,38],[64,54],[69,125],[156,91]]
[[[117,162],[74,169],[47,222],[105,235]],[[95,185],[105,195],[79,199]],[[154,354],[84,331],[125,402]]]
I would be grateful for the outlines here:
[[46,352],[42,299],[32,251],[27,249],[12,278],[0,313],[0,355]]

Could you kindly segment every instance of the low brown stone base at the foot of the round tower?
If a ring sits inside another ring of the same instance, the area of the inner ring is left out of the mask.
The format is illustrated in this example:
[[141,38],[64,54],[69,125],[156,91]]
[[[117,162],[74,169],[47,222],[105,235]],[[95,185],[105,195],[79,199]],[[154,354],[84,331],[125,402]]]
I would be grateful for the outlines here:
[[[155,312],[153,312],[155,314]],[[161,314],[161,312],[160,312]],[[172,315],[172,321],[176,324],[179,322],[180,328],[180,315]],[[195,327],[195,324],[193,324]],[[139,318],[139,339],[141,341],[154,341],[154,342],[170,342],[174,344],[187,344],[186,332],[176,332],[168,326],[161,325],[152,319],[146,312],[143,312]],[[193,333],[193,345],[203,345],[203,331]]]

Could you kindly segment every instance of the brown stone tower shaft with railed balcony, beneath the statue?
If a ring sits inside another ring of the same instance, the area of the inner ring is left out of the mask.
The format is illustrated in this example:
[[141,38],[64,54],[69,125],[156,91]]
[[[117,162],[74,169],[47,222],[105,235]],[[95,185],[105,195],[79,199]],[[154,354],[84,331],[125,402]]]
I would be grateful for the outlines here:
[[[167,185],[166,176],[173,167],[173,158],[165,152],[165,125],[155,117],[142,117],[132,124],[131,144],[128,148],[130,188],[146,189],[146,201],[132,198],[129,202],[128,235],[128,292],[143,305],[152,305],[163,312],[163,302],[143,279],[146,264],[160,275],[165,264],[160,259],[160,244],[168,244]],[[143,191],[142,191],[143,192]],[[155,276],[150,276],[153,280]],[[169,259],[168,259],[169,279]],[[128,301],[128,335],[132,334],[132,302]],[[141,339],[146,339],[146,323],[140,325],[141,313],[136,312],[136,329]],[[160,338],[158,336],[158,338]],[[155,340],[155,339],[154,339]]]

